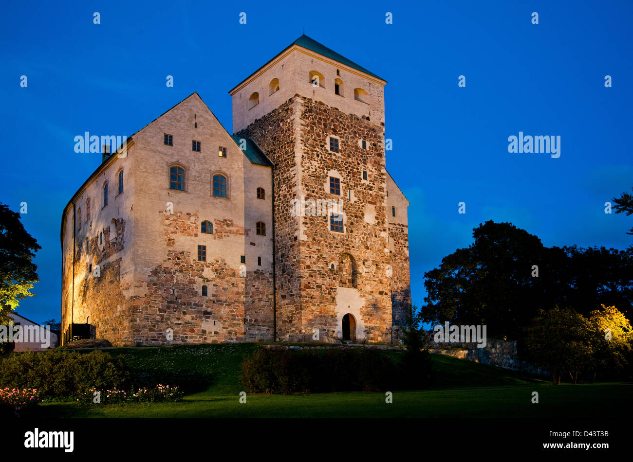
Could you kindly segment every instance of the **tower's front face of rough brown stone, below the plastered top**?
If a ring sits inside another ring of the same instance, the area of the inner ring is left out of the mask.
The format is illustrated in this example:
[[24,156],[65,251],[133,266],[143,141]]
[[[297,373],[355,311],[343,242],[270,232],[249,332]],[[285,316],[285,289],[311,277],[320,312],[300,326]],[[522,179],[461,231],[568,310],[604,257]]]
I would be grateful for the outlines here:
[[[300,194],[315,200],[342,200],[344,232],[331,231],[329,216],[301,217],[303,331],[337,327],[337,303],[342,254],[354,262],[363,337],[390,341],[391,276],[385,216],[385,169],[382,126],[354,114],[344,114],[320,101],[301,97]],[[339,152],[329,149],[329,137],[339,140]],[[365,140],[367,149],[362,149]],[[367,171],[367,180],[363,180]],[[340,179],[341,194],[330,193],[330,177]],[[332,264],[335,268],[332,269]],[[342,284],[343,286],[346,285]]]

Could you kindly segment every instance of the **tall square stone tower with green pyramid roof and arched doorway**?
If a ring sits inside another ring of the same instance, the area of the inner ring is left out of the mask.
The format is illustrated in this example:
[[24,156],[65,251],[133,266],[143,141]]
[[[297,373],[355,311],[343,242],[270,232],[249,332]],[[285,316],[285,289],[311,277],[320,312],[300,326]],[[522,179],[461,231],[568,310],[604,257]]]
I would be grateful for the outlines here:
[[385,83],[302,35],[229,92],[235,135],[274,164],[281,339],[318,329],[391,341],[410,301],[408,202],[385,170]]

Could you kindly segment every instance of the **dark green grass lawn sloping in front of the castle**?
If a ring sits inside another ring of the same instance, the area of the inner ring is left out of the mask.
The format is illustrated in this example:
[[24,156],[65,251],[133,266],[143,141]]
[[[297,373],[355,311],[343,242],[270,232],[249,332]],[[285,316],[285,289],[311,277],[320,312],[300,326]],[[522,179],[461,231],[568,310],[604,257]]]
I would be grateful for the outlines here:
[[[70,418],[596,418],[605,416],[605,409],[632,404],[630,384],[551,386],[540,377],[443,355],[432,356],[436,377],[433,389],[394,391],[392,404],[385,403],[384,392],[249,394],[247,403],[241,404],[239,365],[255,346],[242,343],[114,350],[125,355],[138,374],[177,375],[187,382],[189,394],[182,403],[89,408],[74,403],[44,403],[40,411],[43,417]],[[531,402],[533,391],[539,393],[539,404]]]

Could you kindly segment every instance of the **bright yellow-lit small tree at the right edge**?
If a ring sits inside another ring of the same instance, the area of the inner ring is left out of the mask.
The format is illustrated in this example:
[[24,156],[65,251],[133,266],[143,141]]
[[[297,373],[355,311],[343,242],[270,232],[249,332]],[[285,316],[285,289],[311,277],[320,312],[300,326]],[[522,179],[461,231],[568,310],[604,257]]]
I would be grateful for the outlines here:
[[633,327],[616,307],[594,310],[589,315],[595,334],[594,377],[597,372],[620,372],[627,365],[633,345]]

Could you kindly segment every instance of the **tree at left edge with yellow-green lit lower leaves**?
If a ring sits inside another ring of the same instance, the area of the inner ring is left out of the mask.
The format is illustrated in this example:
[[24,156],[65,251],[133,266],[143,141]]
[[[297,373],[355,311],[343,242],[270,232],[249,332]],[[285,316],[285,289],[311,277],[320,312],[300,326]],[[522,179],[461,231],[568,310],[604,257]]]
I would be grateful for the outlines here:
[[20,215],[0,204],[0,324],[9,322],[8,309],[15,309],[19,300],[33,296],[29,292],[39,281],[37,265],[32,260],[41,249],[37,241],[25,231]]

